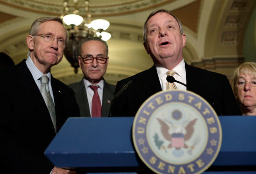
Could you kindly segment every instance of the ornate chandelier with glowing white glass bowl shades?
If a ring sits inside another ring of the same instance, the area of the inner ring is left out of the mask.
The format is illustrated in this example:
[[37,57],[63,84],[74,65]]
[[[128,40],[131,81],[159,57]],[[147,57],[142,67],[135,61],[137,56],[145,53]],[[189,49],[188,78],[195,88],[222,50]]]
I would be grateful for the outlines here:
[[78,0],[73,0],[74,6],[69,6],[69,0],[63,1],[63,14],[61,18],[64,22],[69,34],[69,41],[65,47],[64,55],[74,68],[77,74],[79,64],[78,55],[80,54],[79,43],[88,37],[100,37],[107,41],[110,39],[110,33],[104,32],[109,27],[109,22],[104,19],[95,19],[91,21],[91,14],[89,13],[89,0],[84,1],[85,17],[79,15]]

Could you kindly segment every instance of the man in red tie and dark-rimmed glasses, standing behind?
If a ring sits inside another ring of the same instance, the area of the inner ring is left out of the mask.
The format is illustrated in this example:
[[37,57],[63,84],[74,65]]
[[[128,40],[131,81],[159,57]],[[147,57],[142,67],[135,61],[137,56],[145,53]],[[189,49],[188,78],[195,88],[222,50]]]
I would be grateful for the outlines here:
[[107,117],[115,85],[103,76],[108,65],[108,46],[98,37],[86,38],[80,43],[79,66],[84,78],[70,85],[76,97],[81,117]]

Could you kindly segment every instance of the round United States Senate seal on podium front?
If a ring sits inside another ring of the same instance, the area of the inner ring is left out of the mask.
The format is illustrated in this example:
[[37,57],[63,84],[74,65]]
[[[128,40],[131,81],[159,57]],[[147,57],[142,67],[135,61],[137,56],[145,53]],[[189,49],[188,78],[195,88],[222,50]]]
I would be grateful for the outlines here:
[[212,106],[182,90],[148,98],[133,122],[133,143],[140,159],[158,174],[198,174],[216,159],[222,129]]

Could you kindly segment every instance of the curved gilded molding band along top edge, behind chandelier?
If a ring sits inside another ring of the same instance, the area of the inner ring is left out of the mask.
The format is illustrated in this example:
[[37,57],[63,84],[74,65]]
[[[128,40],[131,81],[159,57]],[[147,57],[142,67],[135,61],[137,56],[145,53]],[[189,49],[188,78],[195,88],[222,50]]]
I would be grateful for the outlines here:
[[[145,9],[156,8],[158,6],[173,2],[176,0],[134,0],[129,2],[122,2],[116,4],[103,4],[99,6],[98,4],[90,4],[90,14],[92,17],[98,16],[113,16],[120,14],[134,13],[136,11],[142,11]],[[33,11],[38,13],[50,14],[50,15],[61,15],[63,12],[62,1],[59,3],[45,3],[32,0],[0,0],[0,3],[14,7],[20,8],[26,11]],[[69,6],[70,10],[73,10],[73,6]],[[78,6],[81,15],[85,16],[86,11],[84,6]]]

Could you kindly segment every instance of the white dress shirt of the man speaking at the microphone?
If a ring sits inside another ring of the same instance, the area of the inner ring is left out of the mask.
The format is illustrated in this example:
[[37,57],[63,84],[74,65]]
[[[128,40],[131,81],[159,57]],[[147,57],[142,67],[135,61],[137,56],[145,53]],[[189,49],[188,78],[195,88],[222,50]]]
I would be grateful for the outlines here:
[[[156,65],[156,70],[157,70],[157,75],[159,77],[159,81],[161,84],[161,88],[164,91],[164,90],[166,90],[166,83],[167,83],[166,73],[169,70],[167,70],[166,68],[160,67],[158,65]],[[176,74],[173,76],[175,78],[175,80],[180,81],[184,84],[187,84],[184,59],[182,59],[182,61],[176,67],[174,67],[172,70],[176,72]],[[174,83],[178,89],[187,90],[187,88],[185,86],[183,86],[182,84],[177,83],[177,82],[174,82]]]

